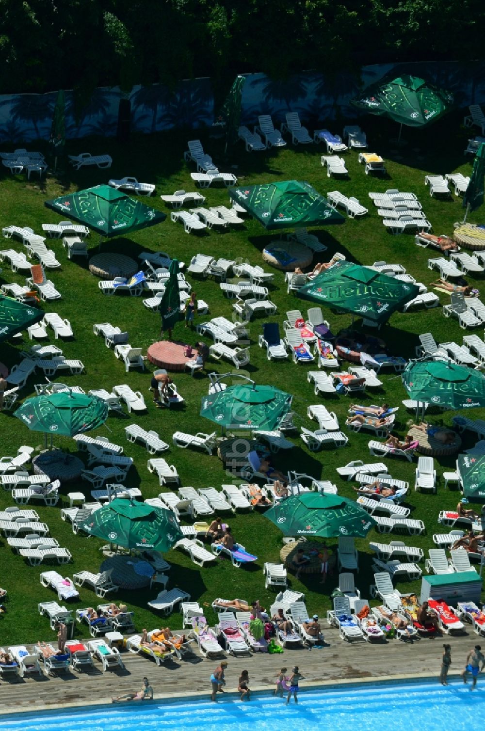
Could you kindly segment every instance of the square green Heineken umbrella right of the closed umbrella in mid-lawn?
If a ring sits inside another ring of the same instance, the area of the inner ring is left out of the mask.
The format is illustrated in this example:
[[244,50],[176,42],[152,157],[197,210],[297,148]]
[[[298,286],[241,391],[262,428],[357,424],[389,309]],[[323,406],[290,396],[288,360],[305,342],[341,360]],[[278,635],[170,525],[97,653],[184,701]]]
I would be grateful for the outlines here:
[[339,261],[304,287],[298,297],[361,315],[380,324],[419,294],[415,284]]

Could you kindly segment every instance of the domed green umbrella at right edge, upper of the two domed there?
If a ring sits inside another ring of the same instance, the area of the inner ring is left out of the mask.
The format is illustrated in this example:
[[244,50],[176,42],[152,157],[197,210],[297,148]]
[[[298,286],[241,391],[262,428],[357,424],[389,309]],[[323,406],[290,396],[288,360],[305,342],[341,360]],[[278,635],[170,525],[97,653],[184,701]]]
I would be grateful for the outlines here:
[[479,371],[443,361],[411,361],[402,382],[413,401],[443,409],[485,406],[485,377]]

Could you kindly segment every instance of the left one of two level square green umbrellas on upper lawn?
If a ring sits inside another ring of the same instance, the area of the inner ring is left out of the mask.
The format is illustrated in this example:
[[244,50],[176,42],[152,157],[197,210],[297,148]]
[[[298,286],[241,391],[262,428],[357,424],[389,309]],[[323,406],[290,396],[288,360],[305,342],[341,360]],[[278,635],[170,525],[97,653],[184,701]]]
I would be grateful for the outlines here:
[[165,213],[108,185],[62,195],[46,200],[44,205],[108,238],[154,226],[167,218]]

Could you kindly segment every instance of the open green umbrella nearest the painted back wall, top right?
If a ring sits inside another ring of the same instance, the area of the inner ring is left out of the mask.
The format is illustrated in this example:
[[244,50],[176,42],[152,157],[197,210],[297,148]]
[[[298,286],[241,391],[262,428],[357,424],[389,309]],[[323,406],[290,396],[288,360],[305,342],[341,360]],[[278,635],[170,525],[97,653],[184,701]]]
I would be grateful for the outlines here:
[[400,124],[422,127],[451,111],[454,96],[418,76],[390,74],[367,86],[350,104]]

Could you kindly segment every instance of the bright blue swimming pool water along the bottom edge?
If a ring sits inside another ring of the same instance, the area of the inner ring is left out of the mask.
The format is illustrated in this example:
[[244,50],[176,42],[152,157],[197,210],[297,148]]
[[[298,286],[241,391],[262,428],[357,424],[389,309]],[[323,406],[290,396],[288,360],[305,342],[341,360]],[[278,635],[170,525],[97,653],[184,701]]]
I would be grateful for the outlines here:
[[[480,683],[480,680],[478,681]],[[372,683],[329,686],[301,692],[298,705],[270,694],[250,702],[191,700],[146,705],[113,705],[83,711],[21,713],[0,716],[1,731],[295,731],[298,727],[348,731],[424,728],[426,731],[470,731],[485,711],[485,683],[473,693],[453,681],[444,687],[431,683]]]

